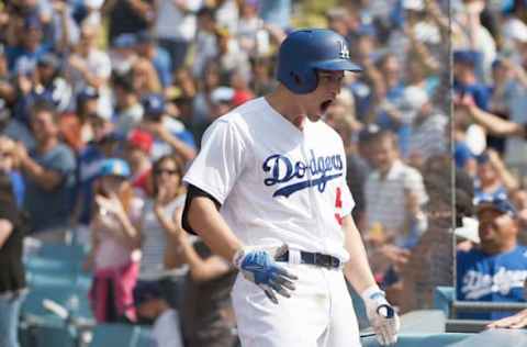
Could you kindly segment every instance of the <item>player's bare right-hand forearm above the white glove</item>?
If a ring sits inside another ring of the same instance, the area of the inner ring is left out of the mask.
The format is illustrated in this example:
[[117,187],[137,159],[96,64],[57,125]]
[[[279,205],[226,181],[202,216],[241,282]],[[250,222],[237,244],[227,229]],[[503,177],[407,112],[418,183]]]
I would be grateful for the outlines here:
[[373,273],[368,264],[368,256],[360,233],[355,225],[351,215],[343,220],[343,230],[346,235],[346,249],[349,253],[349,260],[344,267],[344,275],[354,286],[358,293],[375,284]]

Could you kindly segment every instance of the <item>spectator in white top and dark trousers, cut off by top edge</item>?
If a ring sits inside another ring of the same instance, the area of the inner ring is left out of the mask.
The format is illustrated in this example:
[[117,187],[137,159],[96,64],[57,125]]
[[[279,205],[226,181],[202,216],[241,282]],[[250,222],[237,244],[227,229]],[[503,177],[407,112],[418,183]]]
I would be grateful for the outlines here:
[[202,0],[160,0],[157,3],[155,32],[159,45],[170,54],[170,70],[181,68],[197,32],[195,12]]

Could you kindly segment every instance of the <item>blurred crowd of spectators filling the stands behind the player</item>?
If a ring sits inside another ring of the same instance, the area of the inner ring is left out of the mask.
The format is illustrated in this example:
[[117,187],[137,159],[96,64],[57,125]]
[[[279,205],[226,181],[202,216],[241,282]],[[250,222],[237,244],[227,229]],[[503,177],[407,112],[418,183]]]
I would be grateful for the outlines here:
[[[345,144],[375,278],[402,312],[431,306],[453,283],[452,202],[458,226],[483,214],[473,201],[527,226],[526,13],[483,0],[5,2],[0,345],[16,346],[31,237],[90,249],[97,322],[156,322],[159,346],[233,346],[235,271],[181,228],[181,178],[216,117],[274,88],[278,45],[310,25],[345,36],[363,68],[325,121]],[[470,259],[476,236],[457,236]]]

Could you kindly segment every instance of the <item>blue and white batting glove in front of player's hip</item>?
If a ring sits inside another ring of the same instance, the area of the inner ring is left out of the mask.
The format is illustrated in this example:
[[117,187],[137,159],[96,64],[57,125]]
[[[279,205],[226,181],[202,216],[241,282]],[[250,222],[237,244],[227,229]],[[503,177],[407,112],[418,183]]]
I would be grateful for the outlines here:
[[278,304],[276,293],[290,298],[294,290],[293,281],[296,276],[279,266],[267,250],[239,250],[234,256],[234,266],[249,281],[256,283],[266,293],[267,298]]

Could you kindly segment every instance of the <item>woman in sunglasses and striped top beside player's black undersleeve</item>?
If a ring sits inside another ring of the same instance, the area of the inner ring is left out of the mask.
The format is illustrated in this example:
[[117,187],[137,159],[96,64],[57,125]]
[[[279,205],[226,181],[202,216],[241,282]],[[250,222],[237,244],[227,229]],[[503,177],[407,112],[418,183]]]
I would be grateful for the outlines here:
[[[142,225],[139,282],[156,281],[171,307],[181,306],[181,271],[184,268],[175,238],[181,232],[184,204],[183,164],[173,155],[162,156],[149,177],[150,197],[146,200]],[[177,272],[172,272],[172,269]]]

